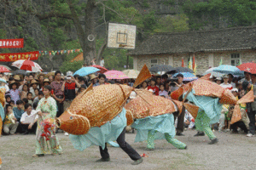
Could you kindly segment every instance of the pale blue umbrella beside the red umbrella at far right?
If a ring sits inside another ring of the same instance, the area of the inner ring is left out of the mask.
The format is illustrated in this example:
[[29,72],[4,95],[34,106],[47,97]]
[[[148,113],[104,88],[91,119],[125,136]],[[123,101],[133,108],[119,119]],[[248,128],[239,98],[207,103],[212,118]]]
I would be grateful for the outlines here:
[[213,71],[224,74],[232,74],[234,76],[244,76],[243,71],[240,71],[236,66],[232,65],[219,65],[217,68],[213,69]]

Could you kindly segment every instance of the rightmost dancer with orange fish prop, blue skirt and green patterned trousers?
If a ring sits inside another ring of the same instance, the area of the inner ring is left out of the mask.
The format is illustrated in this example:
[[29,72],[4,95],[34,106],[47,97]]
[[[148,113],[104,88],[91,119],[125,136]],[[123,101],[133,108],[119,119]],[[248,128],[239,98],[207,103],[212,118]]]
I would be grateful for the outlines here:
[[172,99],[183,99],[183,101],[188,99],[189,102],[199,107],[198,113],[191,113],[191,115],[195,118],[196,129],[207,133],[207,136],[211,139],[209,144],[218,143],[218,139],[212,133],[210,124],[218,122],[222,105],[235,105],[235,111],[230,122],[233,124],[241,120],[239,104],[250,103],[254,100],[253,91],[250,91],[238,100],[230,90],[205,79],[198,79],[183,85],[172,92],[171,97]]

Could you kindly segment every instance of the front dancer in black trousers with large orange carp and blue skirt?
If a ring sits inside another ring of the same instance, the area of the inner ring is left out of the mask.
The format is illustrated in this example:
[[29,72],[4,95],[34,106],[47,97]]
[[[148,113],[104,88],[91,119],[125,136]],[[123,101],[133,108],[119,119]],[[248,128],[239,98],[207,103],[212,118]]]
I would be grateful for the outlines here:
[[99,145],[102,159],[98,161],[110,160],[106,143],[116,140],[134,161],[133,165],[141,163],[143,158],[125,142],[125,127],[131,125],[133,117],[125,111],[124,105],[131,91],[149,77],[151,74],[144,65],[133,88],[120,84],[90,85],[57,118],[57,126],[70,133],[69,138],[78,150]]

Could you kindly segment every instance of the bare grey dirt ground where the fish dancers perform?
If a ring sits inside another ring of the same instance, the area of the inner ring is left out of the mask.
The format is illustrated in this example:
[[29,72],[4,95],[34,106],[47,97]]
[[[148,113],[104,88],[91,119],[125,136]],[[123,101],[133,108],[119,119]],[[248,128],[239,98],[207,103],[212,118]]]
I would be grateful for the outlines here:
[[110,162],[96,162],[100,158],[97,146],[84,151],[75,150],[63,133],[58,133],[64,153],[61,156],[33,158],[35,135],[14,135],[0,138],[1,170],[9,169],[255,169],[256,138],[244,133],[214,132],[218,144],[209,145],[205,137],[193,137],[195,130],[185,131],[177,137],[188,145],[187,150],[177,150],[166,140],[155,140],[155,150],[144,150],[146,142],[134,143],[135,133],[126,133],[126,141],[139,154],[146,154],[143,163],[131,165],[131,159],[120,148],[108,147]]

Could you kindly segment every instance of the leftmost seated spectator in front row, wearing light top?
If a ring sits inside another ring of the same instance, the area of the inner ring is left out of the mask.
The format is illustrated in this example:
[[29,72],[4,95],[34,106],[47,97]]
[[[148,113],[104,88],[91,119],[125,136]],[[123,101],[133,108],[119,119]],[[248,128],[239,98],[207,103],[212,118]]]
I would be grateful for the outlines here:
[[3,122],[3,132],[6,134],[15,134],[19,122],[13,112],[13,107],[11,105],[6,105],[6,115]]

